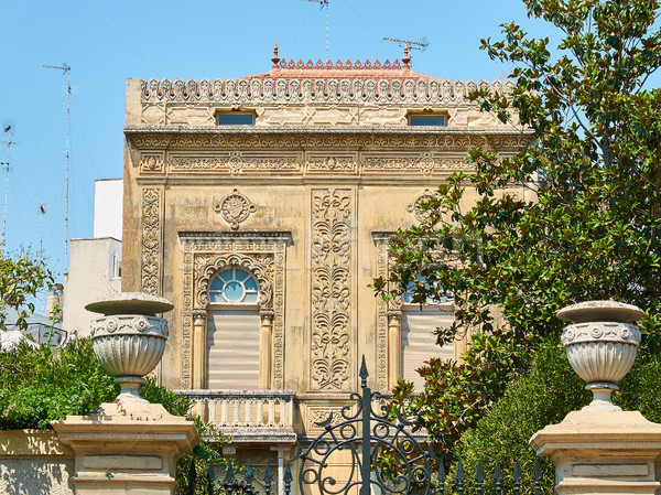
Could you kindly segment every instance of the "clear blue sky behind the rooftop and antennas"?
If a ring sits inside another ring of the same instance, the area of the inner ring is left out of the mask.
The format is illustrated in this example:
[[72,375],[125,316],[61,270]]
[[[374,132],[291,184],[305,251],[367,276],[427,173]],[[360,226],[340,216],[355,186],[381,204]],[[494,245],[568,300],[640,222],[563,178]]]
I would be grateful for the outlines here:
[[[449,79],[497,79],[508,73],[479,51],[481,36],[525,20],[522,1],[330,0],[330,58],[401,57],[383,36],[420,40],[413,69]],[[537,31],[535,31],[537,30]],[[64,0],[0,2],[0,123],[11,122],[7,244],[39,249],[64,271],[66,76],[72,66],[69,237],[93,234],[94,181],[122,174],[124,82],[143,78],[231,78],[268,72],[273,43],[283,58],[325,57],[325,11],[302,0],[139,2]],[[0,161],[7,160],[0,133]],[[4,171],[0,173],[0,214]]]

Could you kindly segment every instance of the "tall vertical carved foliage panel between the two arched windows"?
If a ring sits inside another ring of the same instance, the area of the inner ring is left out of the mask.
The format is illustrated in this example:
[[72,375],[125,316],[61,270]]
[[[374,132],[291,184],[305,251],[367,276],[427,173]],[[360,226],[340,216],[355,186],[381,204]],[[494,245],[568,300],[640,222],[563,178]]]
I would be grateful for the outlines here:
[[316,390],[353,386],[351,214],[351,190],[312,191],[311,388]]

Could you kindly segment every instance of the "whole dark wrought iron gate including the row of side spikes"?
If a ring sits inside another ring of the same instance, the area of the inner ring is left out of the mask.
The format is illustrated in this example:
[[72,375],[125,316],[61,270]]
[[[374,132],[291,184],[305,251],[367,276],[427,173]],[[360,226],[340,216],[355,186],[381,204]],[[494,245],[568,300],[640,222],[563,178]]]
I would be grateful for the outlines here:
[[[315,423],[323,428],[323,432],[303,448],[299,444],[297,452],[292,462],[299,462],[297,480],[292,476],[290,464],[286,465],[283,477],[282,492],[272,486],[273,477],[271,469],[267,465],[263,480],[252,476],[250,464],[246,470],[243,480],[235,475],[234,467],[229,466],[223,480],[217,478],[214,473],[214,464],[209,463],[206,473],[205,494],[226,493],[229,495],[252,495],[263,493],[266,495],[282,493],[292,495],[296,492],[297,481],[299,494],[315,495],[448,495],[456,493],[464,495],[475,492],[477,495],[485,494],[486,476],[481,463],[477,464],[477,471],[472,480],[464,473],[462,461],[458,461],[452,483],[446,481],[446,474],[442,460],[432,450],[431,443],[423,448],[415,435],[411,432],[412,421],[403,418],[399,411],[391,419],[390,410],[386,406],[386,399],[378,391],[372,391],[367,386],[367,366],[365,356],[360,366],[361,392],[350,395],[354,405],[342,408],[339,418],[333,413],[324,421]],[[347,455],[349,462],[344,461],[346,474],[337,477],[338,463],[334,458]],[[332,471],[335,471],[335,474]],[[199,483],[195,466],[192,464],[188,493],[194,494],[196,484]],[[503,475],[500,464],[496,462],[494,480],[494,493],[501,495],[503,492]],[[511,493],[521,494],[521,470],[519,463],[514,465],[511,476]],[[470,482],[473,489],[467,491],[465,482]],[[473,484],[473,482],[475,482]],[[292,489],[294,488],[294,489]],[[528,493],[540,495],[541,473],[539,461],[533,470],[533,486]]]

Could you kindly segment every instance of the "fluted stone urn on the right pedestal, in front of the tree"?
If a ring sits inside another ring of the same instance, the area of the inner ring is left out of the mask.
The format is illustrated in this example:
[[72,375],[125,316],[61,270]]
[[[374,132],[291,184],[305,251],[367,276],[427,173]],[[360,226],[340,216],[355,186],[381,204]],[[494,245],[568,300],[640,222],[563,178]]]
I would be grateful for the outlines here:
[[640,346],[640,331],[633,324],[644,316],[635,305],[615,301],[587,301],[557,312],[573,322],[562,333],[562,344],[574,370],[587,381],[593,401],[583,410],[621,411],[610,399],[617,381],[631,369]]

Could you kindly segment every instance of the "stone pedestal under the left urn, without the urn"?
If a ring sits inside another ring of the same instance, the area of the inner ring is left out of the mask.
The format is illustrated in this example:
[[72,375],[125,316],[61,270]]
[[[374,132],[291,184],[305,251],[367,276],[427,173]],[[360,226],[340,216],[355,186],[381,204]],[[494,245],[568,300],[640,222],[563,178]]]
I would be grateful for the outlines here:
[[76,495],[174,494],[176,460],[199,441],[193,422],[161,405],[105,403],[53,428],[75,452]]

